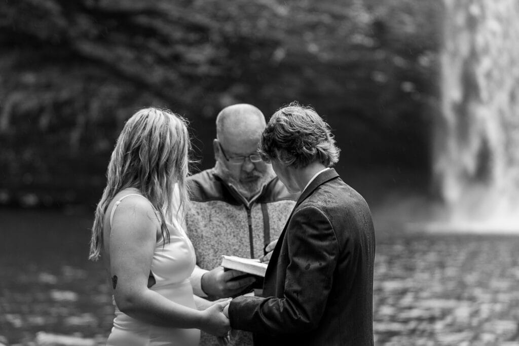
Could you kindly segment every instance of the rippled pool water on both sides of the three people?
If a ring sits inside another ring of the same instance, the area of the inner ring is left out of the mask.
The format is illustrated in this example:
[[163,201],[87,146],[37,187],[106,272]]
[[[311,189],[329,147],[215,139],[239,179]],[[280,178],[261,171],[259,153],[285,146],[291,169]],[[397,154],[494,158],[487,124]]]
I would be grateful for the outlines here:
[[[0,342],[105,341],[113,308],[87,260],[90,226],[89,213],[0,210]],[[517,248],[515,236],[378,232],[376,344],[519,345]]]

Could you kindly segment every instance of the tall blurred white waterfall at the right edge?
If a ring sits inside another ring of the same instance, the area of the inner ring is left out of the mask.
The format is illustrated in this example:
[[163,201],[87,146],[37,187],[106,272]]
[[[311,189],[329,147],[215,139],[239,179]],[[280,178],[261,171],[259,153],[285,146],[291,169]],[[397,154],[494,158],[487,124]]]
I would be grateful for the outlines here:
[[519,1],[444,10],[434,185],[460,228],[519,231]]

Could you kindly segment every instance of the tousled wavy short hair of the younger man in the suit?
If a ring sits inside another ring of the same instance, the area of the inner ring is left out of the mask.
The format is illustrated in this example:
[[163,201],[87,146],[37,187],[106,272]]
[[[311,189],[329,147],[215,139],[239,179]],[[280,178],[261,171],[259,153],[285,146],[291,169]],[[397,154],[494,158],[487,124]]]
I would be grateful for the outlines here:
[[332,167],[339,161],[329,124],[312,107],[292,102],[277,110],[263,131],[258,153],[286,167],[301,168],[319,161]]

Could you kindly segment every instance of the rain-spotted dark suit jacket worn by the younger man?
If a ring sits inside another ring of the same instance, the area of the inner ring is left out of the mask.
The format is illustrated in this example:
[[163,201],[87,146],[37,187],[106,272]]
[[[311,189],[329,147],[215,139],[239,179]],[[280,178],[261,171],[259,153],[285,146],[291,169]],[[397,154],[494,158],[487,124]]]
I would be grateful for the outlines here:
[[237,297],[230,325],[255,345],[373,345],[370,209],[334,169],[303,191],[272,253],[263,297]]

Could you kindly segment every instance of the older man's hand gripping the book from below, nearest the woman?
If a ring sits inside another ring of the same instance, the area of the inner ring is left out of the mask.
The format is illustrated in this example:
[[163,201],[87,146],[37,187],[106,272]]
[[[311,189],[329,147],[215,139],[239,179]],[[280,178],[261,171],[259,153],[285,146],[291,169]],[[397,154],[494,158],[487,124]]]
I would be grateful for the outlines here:
[[256,279],[238,270],[226,270],[223,267],[216,267],[202,275],[202,290],[207,295],[217,298],[231,297],[242,292],[247,286],[251,285]]

